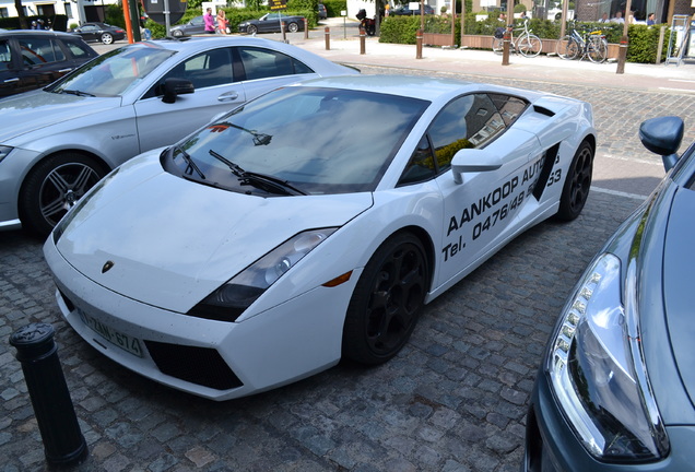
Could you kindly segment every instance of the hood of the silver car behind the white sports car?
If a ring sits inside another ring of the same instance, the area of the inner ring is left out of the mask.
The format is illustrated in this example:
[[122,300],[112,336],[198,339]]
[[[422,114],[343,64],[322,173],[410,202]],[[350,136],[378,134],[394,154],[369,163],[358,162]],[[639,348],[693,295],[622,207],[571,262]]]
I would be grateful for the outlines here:
[[120,97],[94,98],[34,91],[0,101],[0,143],[51,125],[120,106]]

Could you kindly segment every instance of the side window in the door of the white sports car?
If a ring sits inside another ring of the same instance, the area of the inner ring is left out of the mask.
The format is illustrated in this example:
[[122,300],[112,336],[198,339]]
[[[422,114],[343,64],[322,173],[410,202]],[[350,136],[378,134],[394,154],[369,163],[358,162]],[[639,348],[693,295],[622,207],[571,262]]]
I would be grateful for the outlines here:
[[458,97],[439,113],[429,127],[438,172],[451,166],[453,155],[467,148],[483,148],[505,129],[497,107],[487,94]]

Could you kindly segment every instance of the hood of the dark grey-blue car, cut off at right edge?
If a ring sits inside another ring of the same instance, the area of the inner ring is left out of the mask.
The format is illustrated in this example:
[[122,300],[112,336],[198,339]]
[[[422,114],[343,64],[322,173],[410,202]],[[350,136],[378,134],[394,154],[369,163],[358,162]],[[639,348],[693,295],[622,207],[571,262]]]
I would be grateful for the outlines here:
[[683,384],[695,404],[695,191],[680,188],[671,204],[663,248],[663,297],[671,346]]

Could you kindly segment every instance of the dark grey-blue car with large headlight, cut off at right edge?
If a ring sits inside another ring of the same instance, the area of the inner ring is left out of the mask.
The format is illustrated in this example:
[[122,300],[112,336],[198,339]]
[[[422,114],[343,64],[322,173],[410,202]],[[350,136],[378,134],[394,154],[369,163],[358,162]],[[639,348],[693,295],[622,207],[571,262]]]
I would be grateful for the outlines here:
[[668,172],[567,300],[530,401],[521,470],[686,471],[695,461],[695,143],[645,121]]

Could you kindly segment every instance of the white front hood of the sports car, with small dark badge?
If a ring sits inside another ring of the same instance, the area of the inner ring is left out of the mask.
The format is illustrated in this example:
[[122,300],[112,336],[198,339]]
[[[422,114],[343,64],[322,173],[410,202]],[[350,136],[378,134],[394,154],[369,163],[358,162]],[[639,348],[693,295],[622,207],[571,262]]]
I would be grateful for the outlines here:
[[373,203],[370,193],[261,198],[212,188],[165,173],[154,153],[107,179],[68,216],[59,252],[97,284],[175,311],[295,234],[342,226]]

